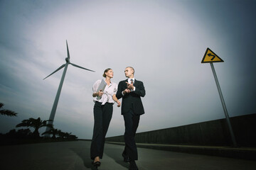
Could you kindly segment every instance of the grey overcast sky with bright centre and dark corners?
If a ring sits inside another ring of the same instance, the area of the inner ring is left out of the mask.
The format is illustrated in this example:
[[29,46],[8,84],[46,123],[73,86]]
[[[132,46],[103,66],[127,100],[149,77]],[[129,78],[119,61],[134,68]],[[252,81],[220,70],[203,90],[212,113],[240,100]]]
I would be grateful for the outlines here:
[[[112,68],[118,84],[132,66],[144,82],[145,114],[137,132],[225,118],[207,47],[230,117],[256,113],[256,1],[0,1],[0,102],[17,117],[1,115],[0,132],[21,120],[48,120],[68,66],[54,127],[91,139],[92,84]],[[45,130],[42,128],[41,131]],[[120,108],[107,136],[123,135]]]

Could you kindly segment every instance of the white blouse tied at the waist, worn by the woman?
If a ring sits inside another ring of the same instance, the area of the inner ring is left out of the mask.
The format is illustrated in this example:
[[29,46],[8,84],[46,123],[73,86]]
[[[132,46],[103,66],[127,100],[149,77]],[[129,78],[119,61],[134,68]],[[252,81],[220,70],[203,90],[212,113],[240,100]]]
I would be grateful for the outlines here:
[[[100,82],[102,80],[97,80],[95,82],[95,84],[93,84],[92,86],[92,93],[96,93],[98,87],[100,86]],[[112,98],[112,96],[114,94],[117,94],[117,84],[115,84],[114,82],[110,82],[110,86],[106,85],[102,97],[100,99],[97,99],[97,96],[95,98],[93,98],[93,101],[99,101],[102,102],[102,105],[105,105],[105,103],[114,103],[114,100]]]

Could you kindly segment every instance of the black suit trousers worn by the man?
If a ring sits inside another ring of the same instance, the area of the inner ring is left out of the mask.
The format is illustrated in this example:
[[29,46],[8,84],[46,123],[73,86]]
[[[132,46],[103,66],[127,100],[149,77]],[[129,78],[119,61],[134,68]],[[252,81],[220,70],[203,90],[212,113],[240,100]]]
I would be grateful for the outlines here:
[[139,117],[140,115],[135,115],[134,112],[131,110],[129,113],[126,113],[124,116],[124,152],[123,154],[127,155],[130,160],[138,160],[138,152],[137,152],[137,145],[135,142],[135,134],[139,125]]

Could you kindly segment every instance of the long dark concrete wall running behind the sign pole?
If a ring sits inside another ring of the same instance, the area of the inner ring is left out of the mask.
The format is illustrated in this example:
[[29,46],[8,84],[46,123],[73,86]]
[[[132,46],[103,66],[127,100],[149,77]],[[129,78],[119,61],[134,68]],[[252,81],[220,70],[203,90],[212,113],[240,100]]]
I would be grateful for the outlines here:
[[[256,146],[256,114],[230,118],[230,123],[233,127],[233,132],[239,146]],[[149,132],[139,132],[136,134],[135,139],[138,143],[206,146],[232,145],[228,125],[225,119]],[[124,137],[123,135],[107,137],[106,141],[124,142]]]

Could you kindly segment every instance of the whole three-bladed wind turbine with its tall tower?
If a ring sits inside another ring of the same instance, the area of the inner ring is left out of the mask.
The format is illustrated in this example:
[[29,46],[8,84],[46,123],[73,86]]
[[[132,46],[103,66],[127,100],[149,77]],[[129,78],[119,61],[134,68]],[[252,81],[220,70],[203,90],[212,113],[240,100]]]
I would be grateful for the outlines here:
[[[65,68],[64,68],[64,71],[63,71],[63,75],[62,75],[62,77],[61,77],[61,79],[60,79],[60,85],[59,85],[59,87],[58,87],[57,94],[56,94],[56,96],[55,96],[55,100],[54,100],[54,103],[53,103],[53,108],[52,108],[52,110],[51,110],[51,112],[50,112],[50,118],[49,118],[49,121],[48,121],[48,125],[49,125],[49,124],[50,124],[50,125],[53,125],[53,120],[54,120],[55,112],[56,112],[56,109],[57,109],[57,106],[58,106],[58,100],[59,100],[59,98],[60,98],[60,91],[61,91],[62,86],[63,86],[63,81],[64,81],[65,74],[66,74],[67,69],[68,69],[68,64],[71,64],[71,65],[73,65],[73,66],[75,66],[75,67],[78,67],[78,68],[80,68],[80,69],[85,69],[84,67],[80,67],[80,66],[78,66],[78,65],[73,64],[73,63],[70,62],[70,54],[69,54],[69,51],[68,51],[68,41],[67,41],[67,40],[66,40],[66,44],[67,44],[67,52],[68,52],[68,57],[65,58],[66,63],[63,64],[62,66],[60,66],[58,69],[56,69],[56,70],[52,73],[52,74],[54,74],[55,72],[58,72],[60,69],[62,69],[63,67],[65,67]],[[95,71],[93,71],[93,70],[91,70],[91,69],[86,69],[86,70],[87,70],[87,71],[90,71],[90,72],[95,72]],[[48,75],[48,77],[50,77],[52,74]],[[47,78],[47,77],[46,77],[46,78]],[[46,79],[46,78],[44,78],[44,79]],[[47,132],[48,130],[50,130],[50,128],[49,128],[49,127],[46,127],[46,132]],[[49,136],[49,135],[46,135],[46,136]]]

